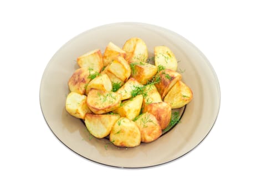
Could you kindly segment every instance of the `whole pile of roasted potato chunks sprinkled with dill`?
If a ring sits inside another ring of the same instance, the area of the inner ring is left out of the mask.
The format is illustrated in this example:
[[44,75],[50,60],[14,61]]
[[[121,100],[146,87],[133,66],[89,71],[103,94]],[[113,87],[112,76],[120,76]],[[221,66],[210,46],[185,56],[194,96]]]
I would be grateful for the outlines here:
[[157,140],[173,126],[172,109],[190,103],[193,93],[169,47],[155,46],[153,54],[149,58],[146,43],[132,37],[122,47],[109,42],[104,53],[92,48],[78,56],[66,111],[117,147]]

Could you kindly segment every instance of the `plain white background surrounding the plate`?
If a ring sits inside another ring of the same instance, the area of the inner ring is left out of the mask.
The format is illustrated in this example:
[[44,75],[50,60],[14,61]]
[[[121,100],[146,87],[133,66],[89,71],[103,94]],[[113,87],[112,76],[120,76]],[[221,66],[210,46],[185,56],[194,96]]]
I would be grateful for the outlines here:
[[[1,1],[0,192],[256,192],[252,2]],[[115,22],[175,31],[218,75],[216,124],[175,162],[147,169],[96,164],[66,148],[44,121],[39,86],[50,58],[75,35]]]

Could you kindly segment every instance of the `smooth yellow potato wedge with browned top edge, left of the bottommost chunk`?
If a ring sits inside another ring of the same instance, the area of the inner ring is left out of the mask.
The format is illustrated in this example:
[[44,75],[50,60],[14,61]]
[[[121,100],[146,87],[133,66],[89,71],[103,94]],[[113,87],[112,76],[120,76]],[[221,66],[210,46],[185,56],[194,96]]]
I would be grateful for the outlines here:
[[109,135],[112,126],[119,119],[119,115],[85,115],[85,125],[88,131],[97,138],[104,138]]

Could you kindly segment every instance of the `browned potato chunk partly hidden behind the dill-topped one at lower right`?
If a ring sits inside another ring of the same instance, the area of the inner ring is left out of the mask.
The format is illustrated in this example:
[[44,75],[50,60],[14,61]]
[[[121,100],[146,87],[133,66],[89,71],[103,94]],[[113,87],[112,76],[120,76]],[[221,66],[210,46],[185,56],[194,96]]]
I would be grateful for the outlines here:
[[171,105],[165,102],[146,105],[143,112],[149,112],[154,115],[162,130],[165,129],[171,121],[172,108]]

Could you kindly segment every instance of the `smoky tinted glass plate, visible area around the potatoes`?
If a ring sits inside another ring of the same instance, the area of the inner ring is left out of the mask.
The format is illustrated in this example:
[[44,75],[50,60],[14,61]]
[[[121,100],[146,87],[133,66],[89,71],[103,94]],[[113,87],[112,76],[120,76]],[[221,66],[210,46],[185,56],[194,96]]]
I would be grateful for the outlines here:
[[[91,137],[79,119],[65,110],[68,79],[78,68],[76,58],[94,49],[105,51],[109,41],[122,47],[131,37],[146,42],[149,53],[165,45],[175,53],[182,80],[193,91],[181,122],[151,143],[118,148],[106,139]],[[65,146],[94,162],[121,168],[144,168],[171,162],[190,152],[207,136],[216,121],[220,105],[219,83],[213,67],[191,42],[173,31],[143,23],[115,23],[99,26],[74,37],[49,61],[40,85],[40,105],[54,135]]]

